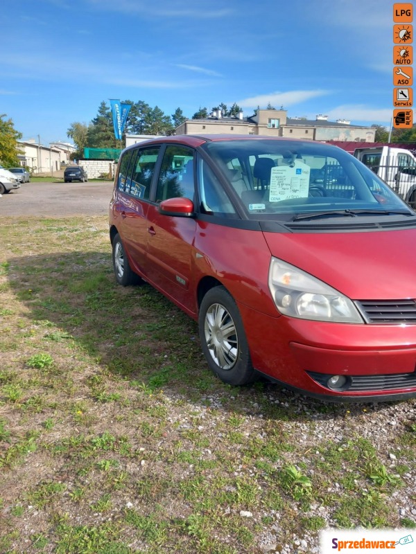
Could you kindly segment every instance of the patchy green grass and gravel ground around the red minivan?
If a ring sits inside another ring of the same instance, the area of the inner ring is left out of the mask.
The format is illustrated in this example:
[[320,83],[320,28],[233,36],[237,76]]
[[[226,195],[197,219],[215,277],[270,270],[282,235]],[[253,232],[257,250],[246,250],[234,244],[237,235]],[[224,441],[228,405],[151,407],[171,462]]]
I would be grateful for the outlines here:
[[0,226],[1,552],[257,554],[265,533],[318,545],[325,517],[416,525],[414,401],[227,386],[194,321],[116,285],[105,217]]

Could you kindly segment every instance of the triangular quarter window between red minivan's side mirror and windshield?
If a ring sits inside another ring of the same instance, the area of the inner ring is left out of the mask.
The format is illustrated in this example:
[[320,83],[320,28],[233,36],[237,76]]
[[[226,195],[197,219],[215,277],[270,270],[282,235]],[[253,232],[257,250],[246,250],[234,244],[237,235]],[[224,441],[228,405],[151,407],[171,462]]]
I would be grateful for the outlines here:
[[210,215],[230,217],[236,215],[227,193],[220,181],[205,163],[198,157],[198,194],[200,197],[200,211]]

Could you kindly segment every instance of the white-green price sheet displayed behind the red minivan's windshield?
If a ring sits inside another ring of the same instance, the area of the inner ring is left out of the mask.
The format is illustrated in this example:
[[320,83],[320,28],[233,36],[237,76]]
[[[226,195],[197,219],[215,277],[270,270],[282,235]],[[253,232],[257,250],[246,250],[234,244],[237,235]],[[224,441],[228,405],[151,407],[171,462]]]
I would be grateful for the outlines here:
[[270,175],[269,202],[309,196],[311,168],[303,161],[295,160],[290,166],[272,168]]

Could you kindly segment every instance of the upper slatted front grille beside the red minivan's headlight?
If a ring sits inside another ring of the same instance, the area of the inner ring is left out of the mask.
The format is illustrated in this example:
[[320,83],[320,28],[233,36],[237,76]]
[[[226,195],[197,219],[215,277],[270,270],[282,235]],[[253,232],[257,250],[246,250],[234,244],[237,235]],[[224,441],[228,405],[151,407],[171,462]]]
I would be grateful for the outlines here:
[[361,300],[356,306],[366,323],[416,323],[416,302],[410,300]]

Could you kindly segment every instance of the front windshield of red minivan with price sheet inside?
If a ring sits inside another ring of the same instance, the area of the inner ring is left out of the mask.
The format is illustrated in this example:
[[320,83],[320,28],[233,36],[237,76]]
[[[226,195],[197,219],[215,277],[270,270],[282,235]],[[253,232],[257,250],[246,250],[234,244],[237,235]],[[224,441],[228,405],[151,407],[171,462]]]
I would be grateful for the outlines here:
[[331,145],[243,139],[209,141],[202,148],[253,219],[414,215],[374,172]]

